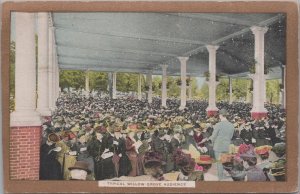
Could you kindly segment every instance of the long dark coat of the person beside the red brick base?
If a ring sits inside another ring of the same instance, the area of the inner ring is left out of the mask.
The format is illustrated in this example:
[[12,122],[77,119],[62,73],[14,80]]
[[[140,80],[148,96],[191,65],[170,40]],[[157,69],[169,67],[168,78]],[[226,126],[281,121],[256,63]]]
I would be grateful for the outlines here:
[[56,159],[57,152],[50,150],[55,148],[46,143],[41,146],[40,150],[40,180],[62,180],[61,165]]

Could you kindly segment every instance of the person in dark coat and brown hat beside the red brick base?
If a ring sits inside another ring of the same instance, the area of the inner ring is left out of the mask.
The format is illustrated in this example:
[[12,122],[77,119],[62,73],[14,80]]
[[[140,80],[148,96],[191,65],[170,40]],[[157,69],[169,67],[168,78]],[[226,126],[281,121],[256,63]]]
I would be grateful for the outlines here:
[[62,180],[61,164],[57,160],[57,153],[61,151],[56,147],[58,135],[50,133],[47,141],[40,149],[40,180]]

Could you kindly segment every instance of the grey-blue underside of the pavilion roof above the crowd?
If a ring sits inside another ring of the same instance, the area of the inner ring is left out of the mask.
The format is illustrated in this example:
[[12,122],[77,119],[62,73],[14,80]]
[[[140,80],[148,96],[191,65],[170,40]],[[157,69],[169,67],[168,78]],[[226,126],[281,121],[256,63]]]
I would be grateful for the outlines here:
[[254,63],[251,26],[267,26],[269,78],[285,65],[285,15],[234,13],[53,13],[61,69],[180,74],[177,57],[188,56],[187,74],[208,71],[205,45],[219,45],[217,72],[245,76]]

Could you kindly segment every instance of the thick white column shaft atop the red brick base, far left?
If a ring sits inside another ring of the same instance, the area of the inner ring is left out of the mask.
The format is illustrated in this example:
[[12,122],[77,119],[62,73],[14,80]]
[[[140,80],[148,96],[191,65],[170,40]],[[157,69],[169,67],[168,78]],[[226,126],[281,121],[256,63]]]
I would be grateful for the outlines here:
[[16,13],[15,111],[10,124],[40,126],[36,111],[35,15]]

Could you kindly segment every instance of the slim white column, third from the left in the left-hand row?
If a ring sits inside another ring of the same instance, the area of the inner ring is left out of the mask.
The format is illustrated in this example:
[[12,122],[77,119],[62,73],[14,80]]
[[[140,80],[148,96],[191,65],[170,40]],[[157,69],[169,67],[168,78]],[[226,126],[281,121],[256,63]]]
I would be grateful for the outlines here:
[[49,26],[48,29],[48,80],[49,80],[49,107],[53,111],[55,109],[55,68],[53,61],[53,26]]

